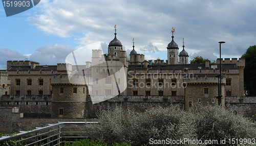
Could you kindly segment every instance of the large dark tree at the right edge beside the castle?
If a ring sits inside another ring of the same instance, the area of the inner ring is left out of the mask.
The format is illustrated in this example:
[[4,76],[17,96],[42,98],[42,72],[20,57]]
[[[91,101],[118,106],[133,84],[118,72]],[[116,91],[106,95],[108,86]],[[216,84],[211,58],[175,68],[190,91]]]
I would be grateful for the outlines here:
[[256,45],[249,46],[241,58],[245,59],[244,91],[245,95],[256,95]]

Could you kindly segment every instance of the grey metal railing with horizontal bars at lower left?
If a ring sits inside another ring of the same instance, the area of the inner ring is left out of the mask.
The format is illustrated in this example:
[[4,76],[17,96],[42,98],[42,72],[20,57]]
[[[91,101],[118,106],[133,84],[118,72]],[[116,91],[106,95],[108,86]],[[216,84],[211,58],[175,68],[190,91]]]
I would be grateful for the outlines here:
[[98,122],[59,122],[47,127],[23,131],[14,136],[3,136],[0,143],[14,140],[18,145],[60,145],[64,140],[74,142],[75,139],[84,139],[92,133],[92,128]]

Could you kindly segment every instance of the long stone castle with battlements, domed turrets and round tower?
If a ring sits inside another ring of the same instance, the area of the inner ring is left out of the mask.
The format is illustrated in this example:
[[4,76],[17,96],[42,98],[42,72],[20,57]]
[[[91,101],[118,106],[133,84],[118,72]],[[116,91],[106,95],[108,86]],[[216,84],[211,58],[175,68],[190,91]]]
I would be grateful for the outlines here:
[[[35,118],[39,118],[36,120],[40,120],[40,125],[71,118],[83,120],[95,117],[102,104],[114,106],[124,103],[141,111],[150,105],[165,107],[175,104],[186,111],[196,104],[216,105],[219,82],[216,76],[220,74],[220,61],[222,106],[229,103],[236,109],[233,111],[236,114],[255,114],[255,98],[244,96],[243,58],[217,59],[217,64],[210,64],[209,60],[205,64],[188,64],[184,43],[182,47],[179,53],[178,44],[172,36],[166,47],[166,61],[160,58],[146,61],[143,54],[136,52],[133,43],[130,58],[127,58],[115,32],[108,54],[92,50],[92,62],[83,66],[7,61],[7,69],[0,70],[0,119],[4,124],[0,129],[10,131],[5,126],[9,124],[8,118],[16,123],[9,127],[20,127],[17,129],[22,129],[21,124],[31,123]],[[82,68],[80,73],[77,67]],[[78,73],[72,73],[70,78],[72,71]],[[125,77],[112,76],[115,72],[122,72]],[[93,104],[92,95],[105,100]],[[114,98],[108,98],[109,95],[114,95]],[[8,113],[8,108],[11,113]],[[14,113],[18,116],[13,116]]]

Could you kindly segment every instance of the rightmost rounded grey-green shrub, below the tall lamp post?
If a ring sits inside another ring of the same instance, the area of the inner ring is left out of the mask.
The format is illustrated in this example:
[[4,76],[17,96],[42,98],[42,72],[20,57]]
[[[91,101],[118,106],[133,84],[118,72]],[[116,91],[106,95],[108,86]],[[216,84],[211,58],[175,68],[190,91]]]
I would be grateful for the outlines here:
[[255,138],[255,124],[219,106],[198,107],[196,133],[201,140]]

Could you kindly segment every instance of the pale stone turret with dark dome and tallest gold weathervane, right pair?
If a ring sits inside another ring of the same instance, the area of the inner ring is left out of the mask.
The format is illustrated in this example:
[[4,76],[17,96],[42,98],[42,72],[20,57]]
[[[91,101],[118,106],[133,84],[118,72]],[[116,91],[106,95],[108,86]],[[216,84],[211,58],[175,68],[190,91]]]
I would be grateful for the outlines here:
[[178,52],[179,52],[179,47],[178,44],[174,41],[174,31],[172,29],[173,36],[172,36],[172,41],[167,45],[167,61],[168,64],[178,64]]

